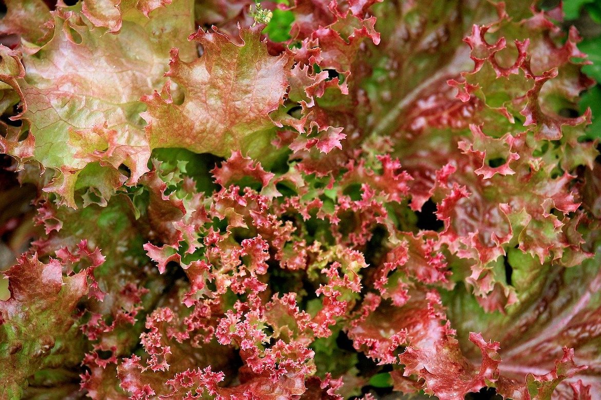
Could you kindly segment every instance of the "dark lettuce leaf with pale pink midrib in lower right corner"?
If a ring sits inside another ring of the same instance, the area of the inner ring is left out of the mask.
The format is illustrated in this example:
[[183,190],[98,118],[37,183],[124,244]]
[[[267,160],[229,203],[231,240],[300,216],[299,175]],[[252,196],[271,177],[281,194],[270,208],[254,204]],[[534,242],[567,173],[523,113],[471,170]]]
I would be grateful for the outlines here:
[[591,386],[593,398],[601,395],[598,246],[596,253],[594,259],[570,269],[551,264],[537,268],[537,262],[529,256],[510,258],[514,279],[524,286],[519,288],[520,302],[505,314],[483,312],[463,291],[448,293],[448,315],[466,356],[477,356],[466,341],[468,332],[482,332],[484,337],[499,341],[499,369],[504,377],[523,384],[526,373],[545,375],[562,358],[563,347],[573,348],[573,362],[588,369],[576,371],[575,376],[561,383],[554,398],[571,398],[569,384],[578,380]]

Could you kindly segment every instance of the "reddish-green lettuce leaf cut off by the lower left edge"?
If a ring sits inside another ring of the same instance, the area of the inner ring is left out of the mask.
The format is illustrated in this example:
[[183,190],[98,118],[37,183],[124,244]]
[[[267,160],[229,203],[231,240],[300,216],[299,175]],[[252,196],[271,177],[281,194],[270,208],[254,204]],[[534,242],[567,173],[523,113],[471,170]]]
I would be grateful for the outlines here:
[[0,302],[0,396],[13,399],[38,369],[81,360],[73,314],[88,285],[85,270],[64,276],[58,260],[44,264],[37,254],[23,255],[5,276],[11,296]]

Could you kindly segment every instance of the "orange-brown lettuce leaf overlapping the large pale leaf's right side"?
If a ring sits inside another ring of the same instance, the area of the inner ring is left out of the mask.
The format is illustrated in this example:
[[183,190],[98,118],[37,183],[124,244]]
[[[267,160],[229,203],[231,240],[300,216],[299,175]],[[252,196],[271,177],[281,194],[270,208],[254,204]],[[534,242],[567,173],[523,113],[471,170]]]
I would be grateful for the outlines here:
[[183,103],[171,97],[169,83],[161,94],[165,98],[157,92],[144,97],[152,148],[183,146],[227,156],[231,149],[256,154],[264,146],[274,130],[269,113],[284,101],[293,59],[287,52],[270,56],[261,29],[241,29],[242,44],[200,30],[191,40],[201,44],[203,56],[192,62],[172,52],[166,76],[182,88]]

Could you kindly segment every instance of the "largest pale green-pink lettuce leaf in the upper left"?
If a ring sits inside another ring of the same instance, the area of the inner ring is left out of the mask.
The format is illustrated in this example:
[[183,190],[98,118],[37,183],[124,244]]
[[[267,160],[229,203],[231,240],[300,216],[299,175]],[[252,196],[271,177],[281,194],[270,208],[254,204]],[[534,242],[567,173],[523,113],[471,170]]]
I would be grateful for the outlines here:
[[[148,170],[150,148],[139,116],[145,106],[139,98],[165,81],[171,46],[180,46],[185,59],[195,53],[193,44],[166,35],[192,32],[192,11],[187,0],[160,8],[150,19],[134,9],[119,35],[93,29],[78,10],[59,9],[53,22],[52,38],[23,56],[28,75],[19,80],[22,118],[35,141],[32,160],[57,171],[44,190],[75,207],[75,182],[88,163],[99,161],[109,170],[124,164],[131,172],[129,184]],[[104,185],[121,186],[115,173],[100,176]]]

